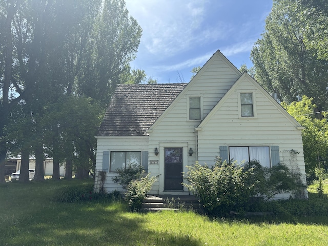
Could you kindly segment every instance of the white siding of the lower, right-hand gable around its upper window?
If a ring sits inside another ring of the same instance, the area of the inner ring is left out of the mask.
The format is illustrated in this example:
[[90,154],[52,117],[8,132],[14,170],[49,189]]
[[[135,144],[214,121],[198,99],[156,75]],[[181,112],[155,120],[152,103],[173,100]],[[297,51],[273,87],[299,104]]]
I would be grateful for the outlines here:
[[[305,165],[301,131],[268,100],[268,95],[257,90],[245,79],[198,131],[199,163],[214,164],[220,146],[279,146],[280,161],[292,170],[299,169],[305,182]],[[238,91],[254,93],[256,117],[238,117]],[[298,152],[297,160],[286,160],[284,153]],[[283,195],[277,198],[282,198]]]

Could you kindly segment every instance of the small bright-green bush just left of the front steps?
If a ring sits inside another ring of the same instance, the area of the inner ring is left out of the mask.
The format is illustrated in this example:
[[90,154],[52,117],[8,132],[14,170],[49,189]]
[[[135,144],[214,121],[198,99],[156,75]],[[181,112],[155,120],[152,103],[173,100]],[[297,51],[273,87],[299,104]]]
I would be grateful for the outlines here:
[[156,176],[141,177],[140,179],[132,180],[127,186],[125,199],[128,201],[131,211],[140,211],[142,201],[146,198],[148,192],[156,181]]

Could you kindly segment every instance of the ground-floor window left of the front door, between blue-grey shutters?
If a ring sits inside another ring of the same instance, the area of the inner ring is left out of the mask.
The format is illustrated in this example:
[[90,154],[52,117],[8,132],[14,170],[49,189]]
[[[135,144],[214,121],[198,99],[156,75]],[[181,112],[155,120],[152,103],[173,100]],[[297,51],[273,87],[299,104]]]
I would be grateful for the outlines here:
[[140,151],[112,151],[111,152],[110,172],[116,172],[118,168],[126,168],[130,163],[137,163],[141,165]]

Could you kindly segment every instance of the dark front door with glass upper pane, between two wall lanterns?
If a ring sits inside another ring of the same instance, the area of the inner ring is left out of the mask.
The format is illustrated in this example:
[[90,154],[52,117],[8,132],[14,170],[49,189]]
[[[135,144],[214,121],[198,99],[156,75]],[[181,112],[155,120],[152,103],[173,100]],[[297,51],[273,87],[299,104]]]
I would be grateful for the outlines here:
[[165,148],[166,191],[182,191],[182,148]]

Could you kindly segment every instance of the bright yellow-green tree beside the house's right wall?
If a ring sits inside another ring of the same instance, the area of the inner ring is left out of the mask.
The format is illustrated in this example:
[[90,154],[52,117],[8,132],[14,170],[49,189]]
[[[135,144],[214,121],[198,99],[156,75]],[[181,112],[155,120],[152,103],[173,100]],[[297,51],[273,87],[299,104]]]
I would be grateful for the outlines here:
[[328,168],[328,125],[326,118],[328,115],[323,112],[324,118],[315,117],[316,105],[312,103],[312,98],[306,96],[290,105],[283,103],[282,106],[305,127],[302,130],[305,172],[308,182],[311,182],[315,178],[316,167]]

